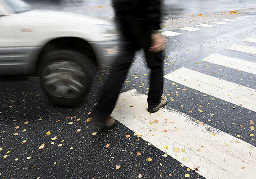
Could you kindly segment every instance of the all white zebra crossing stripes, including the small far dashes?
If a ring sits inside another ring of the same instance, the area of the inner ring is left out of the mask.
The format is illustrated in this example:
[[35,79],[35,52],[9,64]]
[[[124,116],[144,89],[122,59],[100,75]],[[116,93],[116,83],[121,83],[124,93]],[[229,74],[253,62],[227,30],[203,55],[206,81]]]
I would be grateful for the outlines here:
[[[227,19],[226,21],[237,20]],[[220,21],[212,23],[226,24]],[[197,26],[210,28],[214,25],[200,24]],[[201,29],[185,27],[179,30],[197,31]],[[162,34],[181,35],[173,31],[164,31]],[[248,37],[242,41],[255,43],[256,39]],[[233,44],[223,50],[256,54],[255,47],[239,44]],[[246,61],[246,59],[214,53],[201,60],[223,68],[256,74],[256,63]],[[184,67],[166,74],[164,78],[256,112],[256,90],[253,88]],[[130,128],[135,135],[141,135],[143,140],[149,142],[148,145],[154,145],[185,166],[192,169],[200,166],[196,172],[206,179],[251,179],[255,177],[255,146],[208,124],[200,123],[199,119],[194,119],[171,107],[165,107],[154,114],[148,113],[146,98],[145,94],[137,90],[120,94],[117,107],[111,114],[112,117]]]

